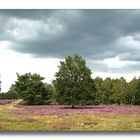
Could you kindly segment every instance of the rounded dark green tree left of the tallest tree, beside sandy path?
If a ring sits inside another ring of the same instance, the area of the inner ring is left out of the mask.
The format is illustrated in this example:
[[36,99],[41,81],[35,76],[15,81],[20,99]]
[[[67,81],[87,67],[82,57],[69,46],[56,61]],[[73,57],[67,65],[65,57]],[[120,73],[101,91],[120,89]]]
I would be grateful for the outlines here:
[[17,73],[17,81],[15,82],[15,91],[27,104],[47,104],[48,92],[44,80],[39,74],[26,73],[19,75]]

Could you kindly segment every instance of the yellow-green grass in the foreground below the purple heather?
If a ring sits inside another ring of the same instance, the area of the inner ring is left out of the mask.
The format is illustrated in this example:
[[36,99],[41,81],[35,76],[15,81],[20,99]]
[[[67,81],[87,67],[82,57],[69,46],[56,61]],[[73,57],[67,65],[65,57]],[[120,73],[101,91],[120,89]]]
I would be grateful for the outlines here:
[[15,105],[0,105],[0,131],[138,131],[140,114],[17,115]]

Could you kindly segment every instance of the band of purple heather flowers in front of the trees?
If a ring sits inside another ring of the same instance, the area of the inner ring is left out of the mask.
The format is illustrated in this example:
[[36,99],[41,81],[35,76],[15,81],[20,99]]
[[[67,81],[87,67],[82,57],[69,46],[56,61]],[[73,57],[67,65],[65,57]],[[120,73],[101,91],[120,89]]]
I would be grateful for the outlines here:
[[89,114],[89,113],[113,113],[113,114],[140,114],[140,106],[136,105],[99,105],[99,106],[78,106],[72,109],[70,106],[61,105],[42,105],[31,106],[21,105],[14,110],[16,114],[32,115],[70,115],[70,114]]

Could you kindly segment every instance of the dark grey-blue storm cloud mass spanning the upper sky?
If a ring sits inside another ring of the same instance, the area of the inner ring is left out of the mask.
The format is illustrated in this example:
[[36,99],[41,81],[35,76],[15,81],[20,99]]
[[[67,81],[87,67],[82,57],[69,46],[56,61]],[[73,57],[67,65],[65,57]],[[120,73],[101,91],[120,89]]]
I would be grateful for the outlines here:
[[89,60],[139,62],[139,25],[140,10],[0,10],[0,40],[34,57],[78,53]]

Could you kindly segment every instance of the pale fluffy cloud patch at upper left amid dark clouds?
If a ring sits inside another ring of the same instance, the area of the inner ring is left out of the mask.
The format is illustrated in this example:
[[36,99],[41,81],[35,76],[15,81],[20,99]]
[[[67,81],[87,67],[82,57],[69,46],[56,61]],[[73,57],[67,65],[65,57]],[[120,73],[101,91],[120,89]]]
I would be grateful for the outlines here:
[[41,35],[45,35],[48,40],[52,35],[63,31],[63,25],[57,18],[52,17],[46,20],[11,18],[9,23],[7,34],[19,41],[37,39]]

